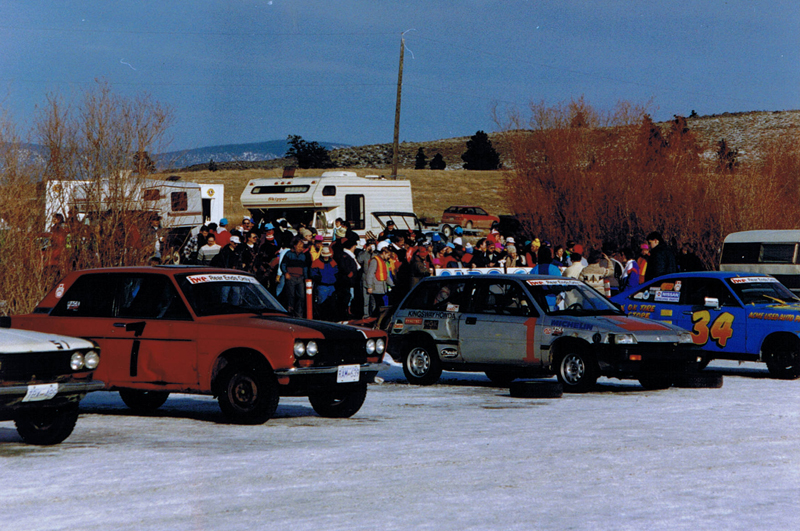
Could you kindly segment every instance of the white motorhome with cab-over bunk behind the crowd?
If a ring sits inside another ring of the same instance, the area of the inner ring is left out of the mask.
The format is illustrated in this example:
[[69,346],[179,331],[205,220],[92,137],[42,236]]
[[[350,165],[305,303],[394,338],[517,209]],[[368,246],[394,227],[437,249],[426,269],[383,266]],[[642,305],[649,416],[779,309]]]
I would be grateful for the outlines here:
[[411,182],[354,172],[329,171],[318,177],[284,176],[252,179],[242,192],[242,206],[256,226],[263,221],[286,219],[292,226],[304,223],[331,235],[336,218],[349,221],[360,236],[375,235],[383,227],[375,212],[413,212]]

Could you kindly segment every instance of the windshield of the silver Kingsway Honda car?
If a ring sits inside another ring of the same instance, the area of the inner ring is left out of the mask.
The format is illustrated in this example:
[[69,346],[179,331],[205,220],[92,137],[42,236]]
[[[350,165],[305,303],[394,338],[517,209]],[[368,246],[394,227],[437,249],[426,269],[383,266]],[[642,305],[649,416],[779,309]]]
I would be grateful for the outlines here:
[[578,280],[527,280],[525,284],[547,315],[623,315],[608,299]]

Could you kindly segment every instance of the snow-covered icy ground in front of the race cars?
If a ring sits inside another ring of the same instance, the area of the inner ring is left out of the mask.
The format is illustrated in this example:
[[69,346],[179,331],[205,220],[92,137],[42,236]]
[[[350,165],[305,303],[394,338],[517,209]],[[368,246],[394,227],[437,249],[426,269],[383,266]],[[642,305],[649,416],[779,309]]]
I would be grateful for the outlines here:
[[483,375],[405,383],[352,419],[282,399],[263,426],[209,397],[157,416],[94,393],[61,445],[0,423],[0,526],[55,530],[800,529],[800,381],[717,362],[722,389],[601,380],[555,400]]

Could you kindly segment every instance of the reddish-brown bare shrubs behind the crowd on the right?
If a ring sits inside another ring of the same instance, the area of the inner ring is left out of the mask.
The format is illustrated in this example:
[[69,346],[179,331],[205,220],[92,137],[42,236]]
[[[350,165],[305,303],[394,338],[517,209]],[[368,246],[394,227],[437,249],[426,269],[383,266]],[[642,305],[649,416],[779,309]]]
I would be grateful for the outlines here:
[[797,227],[798,135],[761,146],[758,166],[719,174],[700,158],[705,146],[684,118],[655,124],[628,103],[608,115],[583,99],[532,104],[527,118],[511,114],[506,130],[506,198],[539,237],[599,248],[635,245],[658,230],[715,267],[729,232]]

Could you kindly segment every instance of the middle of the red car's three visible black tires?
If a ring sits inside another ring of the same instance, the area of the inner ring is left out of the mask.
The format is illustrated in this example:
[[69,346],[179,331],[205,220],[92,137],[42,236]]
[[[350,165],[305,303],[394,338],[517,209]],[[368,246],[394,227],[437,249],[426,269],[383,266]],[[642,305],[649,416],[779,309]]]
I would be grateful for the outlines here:
[[222,413],[235,424],[263,424],[278,409],[278,380],[270,370],[228,365],[216,388]]

